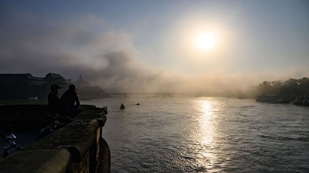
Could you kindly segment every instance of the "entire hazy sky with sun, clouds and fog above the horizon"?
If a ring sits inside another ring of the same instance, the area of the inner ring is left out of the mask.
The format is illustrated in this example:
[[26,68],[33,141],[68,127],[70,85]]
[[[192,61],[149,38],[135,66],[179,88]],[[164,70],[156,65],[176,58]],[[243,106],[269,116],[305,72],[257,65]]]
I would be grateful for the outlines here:
[[309,77],[309,1],[0,1],[0,73],[107,91],[206,91]]

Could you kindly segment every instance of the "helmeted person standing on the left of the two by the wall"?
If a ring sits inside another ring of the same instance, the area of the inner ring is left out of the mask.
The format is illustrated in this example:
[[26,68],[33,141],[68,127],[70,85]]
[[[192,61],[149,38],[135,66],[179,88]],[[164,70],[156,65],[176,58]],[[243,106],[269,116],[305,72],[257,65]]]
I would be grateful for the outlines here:
[[60,111],[60,99],[59,99],[59,91],[63,88],[59,85],[53,84],[50,86],[51,91],[47,95],[48,99],[48,109],[51,113],[59,113]]

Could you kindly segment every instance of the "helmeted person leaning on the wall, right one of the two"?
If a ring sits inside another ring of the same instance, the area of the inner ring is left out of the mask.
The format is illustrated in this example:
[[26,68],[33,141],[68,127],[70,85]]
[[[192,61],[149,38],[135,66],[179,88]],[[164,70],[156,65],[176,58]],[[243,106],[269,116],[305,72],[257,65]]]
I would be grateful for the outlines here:
[[61,116],[74,117],[82,112],[78,109],[80,103],[75,90],[76,85],[71,84],[69,89],[62,94],[60,98]]

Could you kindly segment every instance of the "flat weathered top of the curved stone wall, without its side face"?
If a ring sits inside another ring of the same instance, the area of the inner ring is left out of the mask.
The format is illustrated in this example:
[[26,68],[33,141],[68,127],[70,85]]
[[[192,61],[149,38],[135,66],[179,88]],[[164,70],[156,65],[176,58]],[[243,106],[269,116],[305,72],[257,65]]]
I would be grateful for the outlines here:
[[[32,109],[46,105],[8,105],[0,109]],[[50,133],[23,150],[0,161],[1,172],[65,172],[67,165],[81,162],[96,141],[97,129],[103,127],[106,116],[102,108],[81,105],[78,116],[61,129]]]

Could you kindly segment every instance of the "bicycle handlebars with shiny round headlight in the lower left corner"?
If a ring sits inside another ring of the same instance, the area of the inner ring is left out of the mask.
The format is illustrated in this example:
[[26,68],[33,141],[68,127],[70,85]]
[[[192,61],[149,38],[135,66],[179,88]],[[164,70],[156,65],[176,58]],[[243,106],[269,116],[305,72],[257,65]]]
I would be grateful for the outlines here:
[[[7,125],[7,126],[1,128],[0,130],[5,129],[7,127],[11,127],[11,126]],[[9,149],[12,148],[12,147],[14,147],[16,149],[16,151],[23,149],[23,147],[21,147],[21,146],[19,146],[18,144],[15,143],[16,137],[15,137],[14,134],[10,134],[9,136],[6,136],[5,134],[1,133],[1,131],[0,131],[0,136],[3,138],[2,142],[9,143],[8,146],[3,147],[3,154],[2,154],[2,157],[0,158],[0,160],[9,156]]]

